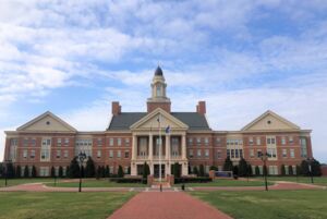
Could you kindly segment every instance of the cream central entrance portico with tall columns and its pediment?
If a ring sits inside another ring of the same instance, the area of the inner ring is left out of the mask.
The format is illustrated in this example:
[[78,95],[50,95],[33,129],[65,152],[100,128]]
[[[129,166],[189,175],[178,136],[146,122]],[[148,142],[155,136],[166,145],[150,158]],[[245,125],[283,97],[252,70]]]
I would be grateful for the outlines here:
[[[160,124],[158,118],[160,118]],[[169,133],[166,132],[168,126]],[[186,124],[158,108],[133,124],[131,130],[133,135],[132,175],[141,174],[140,166],[144,162],[149,166],[150,174],[155,177],[158,175],[160,163],[162,177],[166,177],[171,174],[171,166],[175,162],[181,165],[182,175],[187,175]]]

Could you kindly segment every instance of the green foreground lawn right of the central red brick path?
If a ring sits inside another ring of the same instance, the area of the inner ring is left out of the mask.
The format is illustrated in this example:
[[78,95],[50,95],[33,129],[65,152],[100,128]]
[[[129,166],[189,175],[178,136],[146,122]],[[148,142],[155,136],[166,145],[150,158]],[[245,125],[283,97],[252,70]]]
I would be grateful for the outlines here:
[[325,219],[327,191],[192,192],[235,219]]

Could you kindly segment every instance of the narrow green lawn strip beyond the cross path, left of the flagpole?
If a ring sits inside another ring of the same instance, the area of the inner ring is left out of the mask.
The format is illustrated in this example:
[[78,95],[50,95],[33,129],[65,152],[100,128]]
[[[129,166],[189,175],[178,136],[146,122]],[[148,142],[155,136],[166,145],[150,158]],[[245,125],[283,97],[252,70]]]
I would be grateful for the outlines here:
[[[55,186],[53,181],[47,183],[48,186]],[[78,182],[57,182],[57,187],[78,187]],[[82,181],[83,187],[146,187],[146,184],[142,183],[117,183],[109,182],[108,180],[93,180],[87,179]]]

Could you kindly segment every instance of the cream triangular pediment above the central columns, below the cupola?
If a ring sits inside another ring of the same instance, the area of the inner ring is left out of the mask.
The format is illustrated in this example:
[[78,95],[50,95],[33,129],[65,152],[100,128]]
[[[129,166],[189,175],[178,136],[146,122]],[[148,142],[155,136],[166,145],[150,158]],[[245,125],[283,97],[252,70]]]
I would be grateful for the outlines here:
[[[160,118],[160,119],[159,119]],[[170,113],[166,112],[165,110],[157,108],[149,114],[142,118],[140,121],[135,122],[131,125],[131,130],[155,130],[160,126],[161,129],[166,129],[168,125],[171,130],[187,130],[189,126],[177,119],[175,117],[171,115]]]

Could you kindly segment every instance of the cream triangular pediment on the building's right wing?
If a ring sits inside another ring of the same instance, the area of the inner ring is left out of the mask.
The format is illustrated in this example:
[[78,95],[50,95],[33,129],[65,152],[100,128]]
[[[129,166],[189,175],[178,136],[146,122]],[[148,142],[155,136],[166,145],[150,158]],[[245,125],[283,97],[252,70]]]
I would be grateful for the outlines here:
[[272,131],[272,130],[300,130],[298,125],[287,119],[268,110],[246,126],[242,131]]

